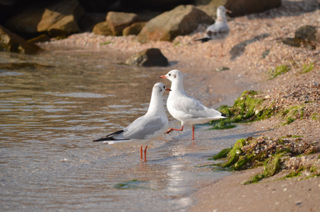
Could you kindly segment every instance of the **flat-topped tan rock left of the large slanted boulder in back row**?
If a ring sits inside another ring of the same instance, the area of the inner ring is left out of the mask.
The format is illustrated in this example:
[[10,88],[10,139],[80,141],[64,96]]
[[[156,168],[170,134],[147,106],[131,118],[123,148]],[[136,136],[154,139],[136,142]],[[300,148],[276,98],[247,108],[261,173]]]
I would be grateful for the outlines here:
[[122,30],[132,23],[140,22],[142,19],[136,13],[120,13],[109,12],[107,13],[107,24],[112,30],[113,35],[122,35]]

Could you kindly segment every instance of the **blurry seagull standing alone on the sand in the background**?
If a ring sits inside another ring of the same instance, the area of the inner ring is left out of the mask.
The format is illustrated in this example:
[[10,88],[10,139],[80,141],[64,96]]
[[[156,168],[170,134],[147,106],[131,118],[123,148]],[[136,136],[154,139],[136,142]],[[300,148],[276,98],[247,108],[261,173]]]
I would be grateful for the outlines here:
[[224,6],[219,6],[217,8],[217,19],[215,20],[215,23],[213,25],[209,25],[206,29],[206,37],[198,39],[201,40],[201,42],[207,42],[209,40],[221,42],[220,57],[223,57],[223,42],[230,33],[225,12],[231,13],[231,11],[227,10]]

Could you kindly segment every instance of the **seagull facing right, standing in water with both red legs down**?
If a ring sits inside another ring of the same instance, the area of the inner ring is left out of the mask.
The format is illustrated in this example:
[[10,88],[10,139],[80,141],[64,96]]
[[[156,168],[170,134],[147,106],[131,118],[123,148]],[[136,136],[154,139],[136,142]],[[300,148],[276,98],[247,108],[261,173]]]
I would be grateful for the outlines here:
[[146,145],[144,150],[144,161],[146,162],[148,144],[162,136],[169,127],[162,99],[162,95],[165,93],[165,90],[170,89],[166,88],[163,83],[155,83],[148,112],[145,115],[138,117],[138,119],[134,120],[134,122],[129,126],[126,126],[126,128],[95,141],[107,141],[108,144],[129,143],[134,146],[141,146],[141,161],[143,160],[143,146]]

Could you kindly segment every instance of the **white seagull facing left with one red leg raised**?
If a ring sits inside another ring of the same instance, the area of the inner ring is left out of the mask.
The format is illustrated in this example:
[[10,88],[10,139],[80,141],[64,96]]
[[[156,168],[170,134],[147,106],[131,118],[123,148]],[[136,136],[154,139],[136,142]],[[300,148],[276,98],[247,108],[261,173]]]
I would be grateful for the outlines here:
[[210,109],[195,98],[186,95],[182,73],[179,70],[169,71],[165,76],[160,76],[160,78],[167,78],[172,82],[170,88],[172,91],[167,99],[167,109],[172,117],[181,121],[181,129],[170,128],[165,132],[166,134],[172,130],[182,131],[184,124],[191,124],[192,140],[194,140],[194,124],[204,124],[213,119],[225,119],[227,117],[226,114]]

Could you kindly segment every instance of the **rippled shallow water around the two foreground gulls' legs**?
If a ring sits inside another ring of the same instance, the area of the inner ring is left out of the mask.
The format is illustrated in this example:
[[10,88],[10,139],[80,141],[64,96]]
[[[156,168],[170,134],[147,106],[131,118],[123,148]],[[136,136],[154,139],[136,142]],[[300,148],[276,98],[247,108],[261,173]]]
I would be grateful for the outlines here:
[[154,141],[141,163],[138,147],[92,140],[144,114],[170,69],[124,66],[103,52],[1,52],[0,63],[29,64],[0,70],[2,210],[185,211],[192,192],[230,175],[196,166],[247,133],[196,126],[193,144],[185,128]]

